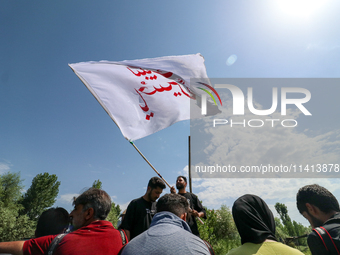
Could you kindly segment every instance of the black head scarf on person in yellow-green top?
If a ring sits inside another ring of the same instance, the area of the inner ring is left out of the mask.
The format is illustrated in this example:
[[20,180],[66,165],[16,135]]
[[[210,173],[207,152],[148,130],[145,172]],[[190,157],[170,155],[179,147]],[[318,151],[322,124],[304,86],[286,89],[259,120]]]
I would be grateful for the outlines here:
[[238,198],[232,209],[241,243],[263,243],[275,238],[274,216],[268,205],[258,196],[244,195]]

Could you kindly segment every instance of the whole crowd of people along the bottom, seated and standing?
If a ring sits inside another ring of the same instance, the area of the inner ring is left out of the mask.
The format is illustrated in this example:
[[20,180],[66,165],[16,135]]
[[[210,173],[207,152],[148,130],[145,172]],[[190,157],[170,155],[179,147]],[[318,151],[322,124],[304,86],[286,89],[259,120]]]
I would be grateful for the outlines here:
[[[186,177],[179,176],[178,192],[171,187],[171,193],[159,198],[166,186],[160,178],[151,178],[146,193],[127,207],[118,229],[105,220],[111,209],[110,196],[90,188],[75,198],[70,214],[63,208],[48,209],[38,220],[35,238],[2,242],[0,253],[214,254],[197,228],[196,218],[206,218],[204,207],[186,186]],[[307,239],[312,255],[340,254],[340,208],[334,195],[317,184],[307,185],[298,191],[296,204],[313,228]],[[260,197],[239,197],[232,215],[242,245],[228,255],[303,254],[277,240],[273,213]]]

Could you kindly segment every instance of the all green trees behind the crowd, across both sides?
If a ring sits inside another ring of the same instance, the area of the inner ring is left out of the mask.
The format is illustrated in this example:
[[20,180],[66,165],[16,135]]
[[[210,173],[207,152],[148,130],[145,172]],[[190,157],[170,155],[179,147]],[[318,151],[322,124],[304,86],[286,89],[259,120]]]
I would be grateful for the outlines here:
[[[42,173],[33,178],[30,188],[23,193],[20,173],[8,172],[0,175],[0,242],[32,238],[39,216],[54,205],[59,186],[60,182],[55,174]],[[100,189],[102,182],[95,180],[92,187]],[[280,216],[275,217],[278,240],[304,254],[311,254],[306,239],[311,228],[292,221],[286,205],[276,203],[275,210]],[[230,208],[222,205],[217,210],[206,208],[206,212],[207,219],[203,219],[204,224],[198,223],[198,228],[201,238],[212,245],[217,255],[226,254],[241,245]],[[119,205],[112,202],[107,220],[117,227],[120,214]]]

